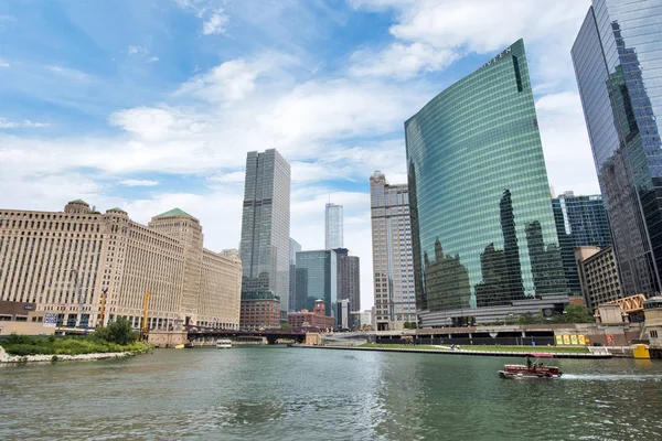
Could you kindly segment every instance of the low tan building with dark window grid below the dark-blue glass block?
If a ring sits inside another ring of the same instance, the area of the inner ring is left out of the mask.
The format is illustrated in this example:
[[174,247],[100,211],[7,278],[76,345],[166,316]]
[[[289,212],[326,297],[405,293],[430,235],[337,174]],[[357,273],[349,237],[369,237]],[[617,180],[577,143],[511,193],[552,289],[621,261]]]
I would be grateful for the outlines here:
[[623,297],[611,247],[577,247],[575,259],[581,293],[589,309],[595,310],[599,304]]

